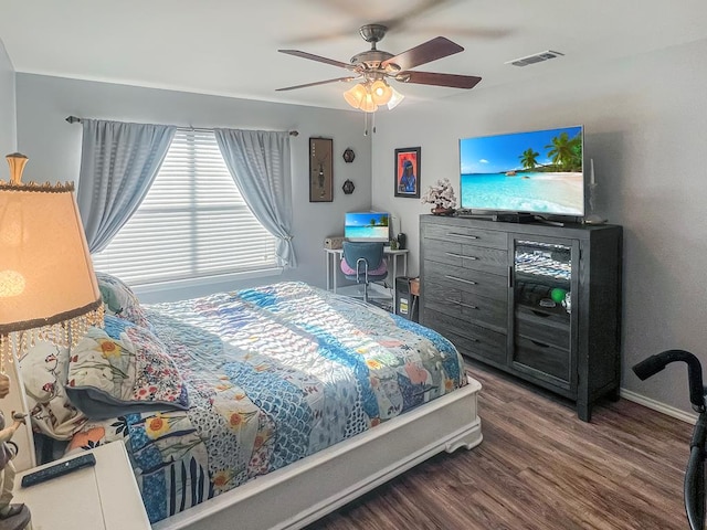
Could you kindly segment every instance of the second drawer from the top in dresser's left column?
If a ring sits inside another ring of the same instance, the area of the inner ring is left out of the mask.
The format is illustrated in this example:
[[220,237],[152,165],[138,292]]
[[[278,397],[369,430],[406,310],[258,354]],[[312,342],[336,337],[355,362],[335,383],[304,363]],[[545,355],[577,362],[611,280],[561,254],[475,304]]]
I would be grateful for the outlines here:
[[431,262],[502,275],[508,268],[508,252],[503,248],[440,240],[425,240],[423,244],[424,257]]

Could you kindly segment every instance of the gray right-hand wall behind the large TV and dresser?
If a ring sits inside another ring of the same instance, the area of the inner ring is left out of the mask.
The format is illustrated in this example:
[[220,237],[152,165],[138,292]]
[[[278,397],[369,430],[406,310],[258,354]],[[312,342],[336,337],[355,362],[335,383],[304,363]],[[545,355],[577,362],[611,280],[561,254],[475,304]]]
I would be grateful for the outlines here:
[[705,56],[707,41],[699,41],[578,67],[562,78],[486,89],[482,84],[441,103],[398,107],[378,118],[373,205],[402,215],[415,272],[419,234],[412,227],[430,205],[393,197],[394,148],[422,147],[423,191],[443,177],[458,191],[460,138],[583,124],[598,210],[624,226],[622,388],[689,411],[684,364],[646,382],[630,368],[671,348],[707,362]]

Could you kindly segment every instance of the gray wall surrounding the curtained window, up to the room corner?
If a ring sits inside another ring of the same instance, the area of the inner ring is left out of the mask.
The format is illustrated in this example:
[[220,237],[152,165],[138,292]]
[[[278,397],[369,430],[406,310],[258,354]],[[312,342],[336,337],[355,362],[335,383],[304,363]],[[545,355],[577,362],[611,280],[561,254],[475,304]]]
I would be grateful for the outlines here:
[[[78,180],[82,127],[67,124],[65,118],[70,115],[192,127],[298,130],[299,136],[292,138],[291,146],[293,232],[299,266],[271,280],[298,279],[326,286],[324,239],[344,232],[344,212],[370,205],[370,138],[362,134],[363,121],[358,113],[22,73],[17,74],[17,107],[18,142],[30,157],[25,180],[38,182]],[[334,138],[334,202],[309,202],[307,153],[313,136]],[[356,152],[352,163],[345,163],[341,158],[347,147]],[[354,194],[341,191],[346,179],[355,182]],[[214,284],[159,295],[143,294],[140,298],[179,299],[262,282]]]

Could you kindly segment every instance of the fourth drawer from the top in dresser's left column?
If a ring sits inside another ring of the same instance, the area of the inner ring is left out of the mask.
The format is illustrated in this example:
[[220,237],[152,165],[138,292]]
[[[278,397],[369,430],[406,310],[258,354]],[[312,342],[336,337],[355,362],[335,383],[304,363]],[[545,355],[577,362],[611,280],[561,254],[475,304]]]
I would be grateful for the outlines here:
[[467,322],[505,332],[508,327],[508,300],[465,293],[444,285],[425,285],[425,307]]

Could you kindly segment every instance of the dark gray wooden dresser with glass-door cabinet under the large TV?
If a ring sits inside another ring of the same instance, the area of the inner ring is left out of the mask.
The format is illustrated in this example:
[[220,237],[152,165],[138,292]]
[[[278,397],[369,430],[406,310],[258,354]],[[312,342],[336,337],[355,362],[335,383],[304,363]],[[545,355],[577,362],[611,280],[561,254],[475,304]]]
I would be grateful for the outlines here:
[[589,422],[619,395],[622,232],[422,215],[421,322]]

